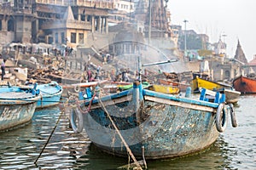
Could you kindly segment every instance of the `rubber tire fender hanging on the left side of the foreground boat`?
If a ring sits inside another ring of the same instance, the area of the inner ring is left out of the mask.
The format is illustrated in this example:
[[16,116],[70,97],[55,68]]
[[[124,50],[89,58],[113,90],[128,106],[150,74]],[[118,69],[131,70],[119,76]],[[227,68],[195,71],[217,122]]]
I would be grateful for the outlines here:
[[[77,120],[78,119],[78,120]],[[78,124],[77,124],[78,122]],[[84,128],[84,117],[78,108],[73,108],[70,112],[70,123],[74,133],[81,133]]]

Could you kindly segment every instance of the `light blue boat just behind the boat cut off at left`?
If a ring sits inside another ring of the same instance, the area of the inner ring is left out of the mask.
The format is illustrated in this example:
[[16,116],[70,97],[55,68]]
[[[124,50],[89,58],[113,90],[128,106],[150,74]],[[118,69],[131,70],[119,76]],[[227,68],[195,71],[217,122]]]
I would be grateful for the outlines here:
[[37,109],[59,105],[63,91],[60,84],[57,82],[39,84],[37,89],[41,92],[41,98],[37,102]]

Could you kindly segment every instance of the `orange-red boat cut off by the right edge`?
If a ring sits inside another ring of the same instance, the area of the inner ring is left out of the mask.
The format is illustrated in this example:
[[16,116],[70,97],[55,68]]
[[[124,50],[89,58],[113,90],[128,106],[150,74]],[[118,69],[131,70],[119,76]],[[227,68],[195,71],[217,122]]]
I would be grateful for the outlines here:
[[236,79],[233,81],[233,86],[242,94],[256,93],[256,79],[253,77],[236,77]]

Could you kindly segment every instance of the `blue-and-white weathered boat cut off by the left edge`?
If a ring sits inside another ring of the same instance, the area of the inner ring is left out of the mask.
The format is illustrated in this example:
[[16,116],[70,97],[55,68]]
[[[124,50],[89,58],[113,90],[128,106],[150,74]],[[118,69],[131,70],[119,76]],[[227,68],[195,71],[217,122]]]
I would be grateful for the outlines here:
[[4,86],[0,88],[0,131],[30,122],[40,99],[35,88]]

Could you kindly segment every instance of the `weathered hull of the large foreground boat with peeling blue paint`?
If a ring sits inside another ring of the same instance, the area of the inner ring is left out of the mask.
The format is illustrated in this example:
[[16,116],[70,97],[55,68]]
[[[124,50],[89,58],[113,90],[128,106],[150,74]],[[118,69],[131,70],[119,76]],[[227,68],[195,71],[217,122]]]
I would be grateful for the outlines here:
[[[143,109],[137,113],[132,96],[103,100],[83,114],[84,129],[101,150],[127,156],[127,150],[108,119],[107,111],[119,128],[132,153],[146,159],[160,159],[204,150],[218,139],[215,125],[218,104],[191,99],[177,99],[168,94],[150,94],[144,90]],[[200,105],[198,105],[200,104]]]

